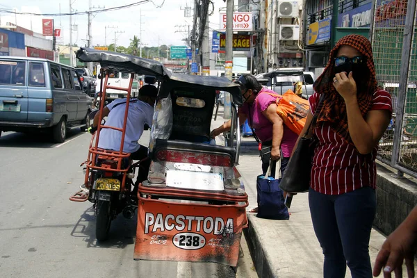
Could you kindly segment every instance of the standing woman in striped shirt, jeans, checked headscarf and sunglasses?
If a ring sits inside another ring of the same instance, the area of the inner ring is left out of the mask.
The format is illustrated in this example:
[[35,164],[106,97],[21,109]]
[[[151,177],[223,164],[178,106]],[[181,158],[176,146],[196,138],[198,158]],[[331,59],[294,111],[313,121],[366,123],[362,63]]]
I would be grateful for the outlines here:
[[376,211],[375,158],[392,107],[389,93],[377,88],[369,40],[341,38],[313,87],[305,126],[318,111],[313,126],[318,144],[309,206],[325,255],[324,277],[345,277],[346,265],[353,278],[372,277],[368,244]]

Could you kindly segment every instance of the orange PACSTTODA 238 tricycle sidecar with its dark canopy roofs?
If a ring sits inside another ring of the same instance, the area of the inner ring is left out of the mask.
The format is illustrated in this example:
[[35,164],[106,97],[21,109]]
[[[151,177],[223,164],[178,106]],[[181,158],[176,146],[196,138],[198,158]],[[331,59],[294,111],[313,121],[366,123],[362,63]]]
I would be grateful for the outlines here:
[[[237,107],[243,104],[239,85],[224,77],[170,74],[155,61],[125,54],[80,51],[82,55],[77,56],[81,60],[101,63],[105,70],[116,67],[132,75],[154,75],[160,81],[149,142],[151,163],[147,180],[138,184],[133,258],[211,261],[236,267],[242,230],[247,227],[248,205],[236,169],[240,152]],[[145,62],[152,72],[142,73]],[[215,145],[210,138],[216,90],[231,94],[231,132],[238,136],[236,140],[230,138],[226,146]],[[97,144],[90,146],[85,177],[89,194],[97,190],[97,182],[91,178],[96,172],[92,170],[102,169],[95,161],[104,154],[107,151],[97,149]],[[127,154],[113,157],[117,165],[122,165]],[[129,174],[129,170],[123,172],[120,167],[114,171],[123,176]]]

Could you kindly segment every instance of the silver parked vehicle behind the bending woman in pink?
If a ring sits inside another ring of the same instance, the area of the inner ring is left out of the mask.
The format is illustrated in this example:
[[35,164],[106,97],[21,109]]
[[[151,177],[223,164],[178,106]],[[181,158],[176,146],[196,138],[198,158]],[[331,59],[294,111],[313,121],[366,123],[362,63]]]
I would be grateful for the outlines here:
[[313,95],[313,83],[315,81],[313,72],[304,72],[302,67],[285,68],[274,70],[268,73],[256,75],[256,79],[264,86],[277,92],[279,95],[284,94],[288,89],[295,92],[295,83],[302,82],[302,97],[309,99]]

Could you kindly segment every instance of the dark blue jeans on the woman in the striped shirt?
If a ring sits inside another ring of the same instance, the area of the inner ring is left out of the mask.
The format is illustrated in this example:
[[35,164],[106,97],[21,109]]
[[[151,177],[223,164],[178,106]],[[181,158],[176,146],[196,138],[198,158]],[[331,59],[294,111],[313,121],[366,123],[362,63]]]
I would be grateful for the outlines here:
[[370,187],[341,195],[325,195],[312,188],[309,205],[314,231],[323,254],[324,278],[344,278],[346,264],[352,278],[371,278],[369,238],[376,212]]

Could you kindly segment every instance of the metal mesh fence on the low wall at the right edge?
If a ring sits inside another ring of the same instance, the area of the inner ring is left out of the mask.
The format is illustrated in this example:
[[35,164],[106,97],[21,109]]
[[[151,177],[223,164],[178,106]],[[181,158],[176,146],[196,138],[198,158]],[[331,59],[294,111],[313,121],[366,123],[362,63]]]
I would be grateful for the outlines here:
[[370,37],[377,81],[393,100],[393,118],[379,142],[379,160],[400,176],[412,177],[417,177],[416,13],[416,1],[375,1]]

